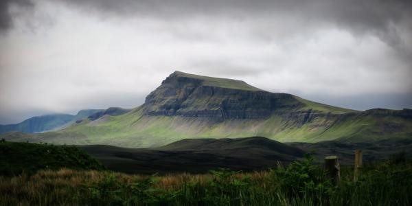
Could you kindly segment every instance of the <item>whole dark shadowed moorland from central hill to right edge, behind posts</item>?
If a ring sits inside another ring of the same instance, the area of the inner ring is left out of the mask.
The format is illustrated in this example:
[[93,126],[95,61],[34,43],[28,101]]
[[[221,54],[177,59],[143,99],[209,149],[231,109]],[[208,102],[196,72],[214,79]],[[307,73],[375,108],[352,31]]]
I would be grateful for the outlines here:
[[343,165],[352,165],[354,150],[363,150],[363,160],[381,161],[399,157],[412,158],[412,139],[387,139],[371,143],[321,141],[319,143],[282,144],[264,137],[236,139],[184,139],[159,148],[119,148],[115,146],[79,146],[101,161],[109,170],[126,173],[168,174],[207,172],[218,168],[262,170],[299,160],[311,153],[323,163],[337,155]]

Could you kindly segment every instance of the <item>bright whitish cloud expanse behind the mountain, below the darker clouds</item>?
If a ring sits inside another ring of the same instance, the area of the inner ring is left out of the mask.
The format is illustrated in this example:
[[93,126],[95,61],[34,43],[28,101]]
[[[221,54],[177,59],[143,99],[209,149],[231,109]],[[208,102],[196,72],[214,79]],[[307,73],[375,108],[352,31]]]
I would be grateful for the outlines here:
[[[0,123],[33,115],[28,111],[139,106],[174,70],[325,103],[412,88],[411,65],[380,36],[302,16],[102,18],[39,2],[33,18],[48,19],[47,26],[27,30],[19,20],[0,38]],[[363,109],[362,101],[338,106]]]

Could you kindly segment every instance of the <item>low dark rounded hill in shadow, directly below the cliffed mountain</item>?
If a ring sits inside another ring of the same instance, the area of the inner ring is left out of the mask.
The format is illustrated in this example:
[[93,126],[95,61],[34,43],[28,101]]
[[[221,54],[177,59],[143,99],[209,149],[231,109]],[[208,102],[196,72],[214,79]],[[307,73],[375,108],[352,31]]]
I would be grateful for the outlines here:
[[185,139],[161,148],[80,146],[109,170],[153,174],[208,172],[218,168],[260,170],[304,157],[304,150],[264,137]]

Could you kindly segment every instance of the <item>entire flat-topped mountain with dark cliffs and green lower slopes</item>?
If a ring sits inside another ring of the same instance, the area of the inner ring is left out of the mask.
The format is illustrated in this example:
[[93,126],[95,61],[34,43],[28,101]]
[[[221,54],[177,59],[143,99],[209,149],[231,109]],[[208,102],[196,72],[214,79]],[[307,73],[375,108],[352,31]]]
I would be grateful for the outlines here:
[[49,133],[8,133],[1,137],[141,148],[181,139],[253,136],[281,142],[410,138],[412,110],[354,111],[287,93],[271,93],[239,80],[175,71],[143,105],[122,115],[99,115],[98,119],[84,119]]

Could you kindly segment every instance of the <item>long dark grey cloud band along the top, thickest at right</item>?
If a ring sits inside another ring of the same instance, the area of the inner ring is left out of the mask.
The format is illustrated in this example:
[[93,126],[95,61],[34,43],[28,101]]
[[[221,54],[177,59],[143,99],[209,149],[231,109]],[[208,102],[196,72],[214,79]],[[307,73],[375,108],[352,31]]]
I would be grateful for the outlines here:
[[[65,0],[62,0],[65,1]],[[268,18],[301,18],[305,23],[332,23],[354,34],[374,34],[395,47],[405,41],[399,27],[412,30],[412,1],[408,0],[314,0],[314,1],[133,1],[133,0],[67,0],[81,10],[93,10],[106,16],[150,16],[163,19],[187,16],[220,16],[248,19],[254,16]],[[407,36],[409,37],[409,36]],[[407,38],[404,37],[404,38]]]

